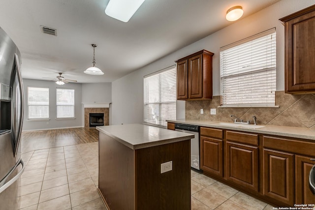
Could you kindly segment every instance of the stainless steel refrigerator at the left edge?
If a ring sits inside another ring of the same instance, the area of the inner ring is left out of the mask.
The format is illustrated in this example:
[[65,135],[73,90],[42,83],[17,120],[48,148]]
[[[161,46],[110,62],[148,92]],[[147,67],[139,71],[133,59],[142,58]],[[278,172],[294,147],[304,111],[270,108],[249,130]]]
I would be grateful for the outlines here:
[[0,28],[0,209],[19,208],[17,180],[24,171],[20,139],[24,111],[20,53]]

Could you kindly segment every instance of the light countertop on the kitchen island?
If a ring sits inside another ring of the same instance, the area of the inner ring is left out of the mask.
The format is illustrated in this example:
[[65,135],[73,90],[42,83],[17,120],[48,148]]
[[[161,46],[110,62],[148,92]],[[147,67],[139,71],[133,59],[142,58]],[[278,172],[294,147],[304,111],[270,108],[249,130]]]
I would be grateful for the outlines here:
[[145,124],[97,126],[96,129],[132,150],[189,140],[193,134]]

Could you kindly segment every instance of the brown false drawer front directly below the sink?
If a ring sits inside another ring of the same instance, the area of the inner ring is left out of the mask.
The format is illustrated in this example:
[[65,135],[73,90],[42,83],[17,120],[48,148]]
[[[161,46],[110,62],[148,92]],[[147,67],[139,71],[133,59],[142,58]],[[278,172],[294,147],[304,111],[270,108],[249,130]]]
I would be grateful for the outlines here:
[[226,131],[226,140],[258,146],[258,134]]

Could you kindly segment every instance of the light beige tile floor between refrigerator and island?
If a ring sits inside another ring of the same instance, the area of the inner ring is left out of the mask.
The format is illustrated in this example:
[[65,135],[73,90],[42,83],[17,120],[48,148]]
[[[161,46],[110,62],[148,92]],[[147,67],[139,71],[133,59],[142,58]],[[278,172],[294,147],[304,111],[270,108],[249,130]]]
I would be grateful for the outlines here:
[[98,143],[22,154],[26,168],[18,181],[23,210],[106,210],[97,192]]

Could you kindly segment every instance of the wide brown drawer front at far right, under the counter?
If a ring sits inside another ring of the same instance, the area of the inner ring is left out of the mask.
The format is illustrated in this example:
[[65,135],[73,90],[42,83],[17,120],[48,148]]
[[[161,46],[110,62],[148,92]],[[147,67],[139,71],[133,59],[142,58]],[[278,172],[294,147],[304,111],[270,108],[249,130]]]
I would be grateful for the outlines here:
[[299,153],[310,156],[315,155],[315,143],[313,142],[282,139],[273,136],[263,136],[263,146],[264,148],[288,151],[292,153]]

